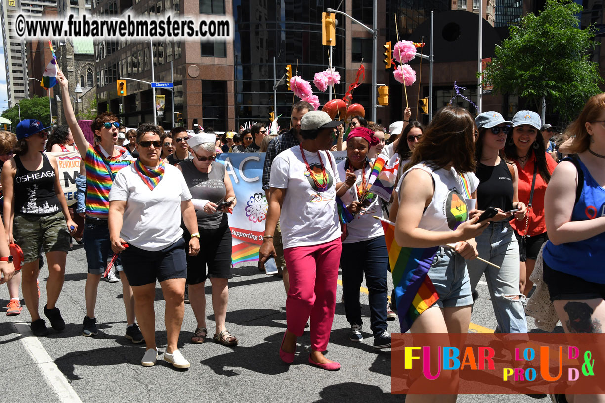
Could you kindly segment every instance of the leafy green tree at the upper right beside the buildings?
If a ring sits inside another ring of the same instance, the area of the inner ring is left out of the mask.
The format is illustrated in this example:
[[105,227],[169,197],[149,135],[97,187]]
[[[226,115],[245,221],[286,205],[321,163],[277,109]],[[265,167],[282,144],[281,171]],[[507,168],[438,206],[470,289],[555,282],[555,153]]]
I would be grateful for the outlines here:
[[583,8],[571,0],[547,0],[539,14],[528,14],[495,49],[483,82],[494,90],[517,94],[540,112],[546,105],[571,121],[603,82],[590,52],[598,45],[594,26],[580,28]]

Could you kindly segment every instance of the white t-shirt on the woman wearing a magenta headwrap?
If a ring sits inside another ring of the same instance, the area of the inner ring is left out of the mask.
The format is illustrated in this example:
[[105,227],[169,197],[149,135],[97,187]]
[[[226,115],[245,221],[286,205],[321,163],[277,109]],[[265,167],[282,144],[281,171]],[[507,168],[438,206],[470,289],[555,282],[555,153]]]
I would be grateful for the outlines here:
[[[339,178],[342,178],[342,181],[347,177],[347,171],[344,169],[345,162],[346,161],[342,161],[336,166],[336,172],[338,172],[338,176]],[[368,163],[365,167],[366,181],[369,179],[372,166],[373,161]],[[355,186],[352,186],[351,189],[348,189],[347,192],[341,196],[342,203],[345,206],[358,200],[358,189],[361,191],[362,188],[361,169],[356,170],[355,175],[357,176]],[[372,216],[382,218],[382,199],[374,195],[374,193],[370,193],[366,200],[371,201],[370,205],[362,208],[361,212],[355,216],[353,221],[347,224],[348,236],[342,243],[355,243],[384,235],[384,230],[382,230],[380,221],[372,218]]]

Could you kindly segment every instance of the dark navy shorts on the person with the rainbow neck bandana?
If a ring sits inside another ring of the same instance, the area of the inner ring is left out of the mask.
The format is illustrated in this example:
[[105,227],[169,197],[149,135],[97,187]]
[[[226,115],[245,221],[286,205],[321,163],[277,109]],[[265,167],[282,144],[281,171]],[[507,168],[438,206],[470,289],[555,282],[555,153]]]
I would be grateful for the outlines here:
[[133,286],[160,283],[187,277],[185,240],[183,238],[162,250],[150,252],[128,245],[120,254],[128,283]]

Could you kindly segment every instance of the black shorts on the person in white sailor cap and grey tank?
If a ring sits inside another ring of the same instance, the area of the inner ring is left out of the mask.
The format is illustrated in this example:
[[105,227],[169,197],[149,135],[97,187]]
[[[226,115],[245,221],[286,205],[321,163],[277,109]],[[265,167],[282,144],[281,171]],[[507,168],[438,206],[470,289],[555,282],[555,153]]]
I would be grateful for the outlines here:
[[[187,284],[195,285],[206,281],[208,277],[231,279],[231,228],[228,225],[212,230],[198,228],[200,231],[200,253],[187,255]],[[183,239],[189,244],[191,235],[184,230]],[[208,274],[206,274],[208,266]]]

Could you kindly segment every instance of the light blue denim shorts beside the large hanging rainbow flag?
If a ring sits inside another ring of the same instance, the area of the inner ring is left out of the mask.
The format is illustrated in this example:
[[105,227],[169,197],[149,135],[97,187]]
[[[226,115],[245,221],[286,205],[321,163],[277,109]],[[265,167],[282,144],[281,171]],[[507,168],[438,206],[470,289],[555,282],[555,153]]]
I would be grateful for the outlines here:
[[436,302],[439,308],[473,305],[466,262],[456,251],[439,247],[428,269],[428,278],[439,295]]

